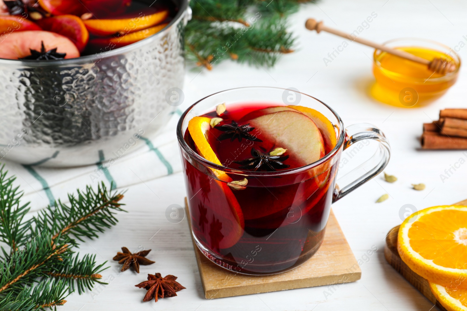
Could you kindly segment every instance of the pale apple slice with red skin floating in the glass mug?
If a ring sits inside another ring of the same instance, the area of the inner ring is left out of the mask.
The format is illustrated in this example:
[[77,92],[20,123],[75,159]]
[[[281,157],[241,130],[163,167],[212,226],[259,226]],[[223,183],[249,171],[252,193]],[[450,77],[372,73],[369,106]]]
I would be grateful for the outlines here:
[[261,131],[261,137],[288,149],[287,154],[302,165],[318,161],[325,155],[321,132],[316,124],[298,111],[278,111],[251,119],[250,126]]

